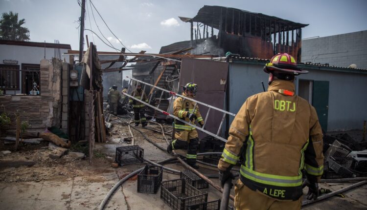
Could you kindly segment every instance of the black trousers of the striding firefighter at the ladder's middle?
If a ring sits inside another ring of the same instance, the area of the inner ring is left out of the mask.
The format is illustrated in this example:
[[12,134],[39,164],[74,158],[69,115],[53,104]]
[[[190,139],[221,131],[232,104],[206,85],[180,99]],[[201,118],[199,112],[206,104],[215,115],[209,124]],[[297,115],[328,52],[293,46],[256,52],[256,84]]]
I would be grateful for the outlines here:
[[183,140],[173,140],[172,149],[184,149],[187,147],[186,162],[188,165],[196,164],[196,153],[199,147],[198,138],[190,139],[188,141]]

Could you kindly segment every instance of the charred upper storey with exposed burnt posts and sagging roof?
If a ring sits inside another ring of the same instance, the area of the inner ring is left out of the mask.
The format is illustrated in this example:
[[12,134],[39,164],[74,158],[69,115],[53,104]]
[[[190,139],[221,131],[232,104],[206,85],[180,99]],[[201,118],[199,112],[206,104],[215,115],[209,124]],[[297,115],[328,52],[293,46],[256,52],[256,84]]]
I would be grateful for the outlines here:
[[189,52],[196,55],[223,56],[231,52],[270,59],[276,53],[285,52],[299,62],[302,28],[308,25],[236,8],[207,5],[193,18],[179,18],[191,24],[191,39],[163,46],[161,54],[193,47]]

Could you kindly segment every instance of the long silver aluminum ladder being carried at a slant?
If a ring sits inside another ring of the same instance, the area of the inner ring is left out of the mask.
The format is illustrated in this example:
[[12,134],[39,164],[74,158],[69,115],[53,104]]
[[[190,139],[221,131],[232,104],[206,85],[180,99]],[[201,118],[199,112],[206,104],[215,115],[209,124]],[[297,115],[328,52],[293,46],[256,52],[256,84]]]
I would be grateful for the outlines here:
[[[178,94],[178,93],[175,93],[175,92],[172,92],[172,91],[169,91],[169,90],[163,89],[163,88],[158,87],[158,86],[155,86],[155,85],[153,85],[153,84],[148,84],[148,83],[145,83],[145,82],[143,82],[143,81],[140,81],[140,80],[137,80],[137,79],[131,78],[131,77],[129,77],[129,76],[126,76],[126,77],[127,77],[128,79],[130,79],[130,82],[129,82],[129,89],[128,89],[127,93],[123,93],[125,96],[127,96],[127,97],[129,97],[129,98],[132,98],[132,99],[134,99],[134,100],[136,100],[136,101],[138,101],[138,102],[140,102],[140,103],[142,103],[142,104],[144,104],[144,105],[147,105],[147,106],[149,106],[149,107],[152,107],[153,109],[155,109],[155,110],[157,110],[157,111],[160,111],[161,113],[163,113],[163,114],[165,114],[165,115],[168,115],[168,116],[170,116],[170,117],[174,118],[175,120],[178,120],[178,121],[180,121],[180,122],[182,122],[182,123],[184,123],[184,124],[186,124],[186,125],[189,125],[189,126],[195,127],[196,129],[198,129],[198,130],[200,130],[200,131],[202,131],[202,132],[204,132],[204,133],[206,133],[206,134],[208,134],[208,135],[210,135],[210,136],[213,136],[214,138],[217,138],[217,139],[220,139],[220,140],[222,140],[222,141],[224,141],[224,142],[227,142],[227,139],[225,139],[225,138],[223,138],[223,137],[219,136],[219,134],[220,134],[220,132],[221,132],[221,129],[222,129],[222,126],[223,126],[223,122],[224,122],[224,120],[226,119],[226,115],[228,114],[228,115],[232,115],[232,116],[234,116],[234,117],[235,117],[235,116],[236,116],[235,114],[230,113],[230,112],[228,112],[228,111],[226,111],[226,110],[223,110],[223,109],[220,109],[220,108],[217,108],[217,107],[214,107],[214,106],[211,106],[211,105],[208,105],[208,104],[205,104],[205,103],[202,103],[202,102],[196,101],[196,100],[194,100],[194,99],[191,99],[191,98],[189,98],[189,97],[186,97],[186,96],[180,95],[180,94]],[[136,93],[136,92],[134,93],[134,95],[133,95],[133,96],[132,96],[132,95],[130,95],[130,94],[128,94],[128,93],[129,93],[129,90],[130,90],[130,87],[132,86],[132,85],[131,85],[131,82],[132,82],[132,81],[136,81],[136,82],[138,82],[138,83],[140,83],[140,84],[144,84],[144,87],[143,87],[143,91],[144,91],[144,92],[145,92],[145,87],[146,87],[146,85],[151,86],[153,89],[155,89],[155,88],[156,88],[156,89],[159,89],[159,90],[161,90],[161,91],[162,91],[162,92],[161,92],[161,97],[160,97],[160,99],[159,99],[159,103],[158,103],[157,107],[156,107],[156,106],[154,106],[154,105],[150,105],[150,102],[151,102],[151,100],[152,100],[152,96],[153,96],[153,94],[151,94],[151,95],[150,95],[148,103],[146,103],[146,102],[144,102],[144,101],[141,101],[140,99],[135,98],[135,93]],[[172,95],[172,96],[171,96],[171,99],[170,99],[170,101],[169,101],[169,104],[168,104],[168,108],[167,108],[167,110],[166,110],[166,111],[164,111],[164,110],[162,110],[162,109],[160,109],[160,108],[159,108],[159,107],[160,107],[160,104],[161,104],[161,100],[162,100],[162,96],[163,96],[163,93],[164,93],[164,92],[167,92],[167,93],[169,93],[170,95]],[[206,112],[206,117],[205,117],[205,120],[204,120],[204,125],[203,125],[203,127],[196,126],[196,125],[194,125],[194,124],[191,124],[191,122],[186,122],[186,121],[184,121],[184,120],[182,120],[182,119],[180,119],[180,118],[178,118],[178,117],[174,116],[173,114],[169,114],[169,113],[168,113],[168,109],[169,109],[169,107],[170,107],[170,105],[171,105],[171,103],[172,103],[172,101],[173,101],[173,96],[181,97],[181,98],[187,99],[187,100],[189,100],[189,101],[195,102],[193,113],[195,113],[195,110],[196,110],[196,107],[197,107],[197,105],[198,105],[198,104],[200,104],[200,105],[204,105],[204,106],[208,107],[208,110],[207,110],[207,112]],[[207,121],[207,119],[208,119],[208,116],[209,116],[209,113],[210,113],[210,110],[211,110],[211,109],[215,109],[215,110],[220,111],[220,112],[222,112],[222,113],[223,113],[223,117],[222,117],[222,120],[221,120],[221,122],[220,122],[220,125],[219,125],[219,128],[218,128],[218,130],[217,130],[217,133],[216,133],[216,134],[214,134],[214,133],[212,133],[212,132],[210,132],[210,131],[208,131],[208,130],[206,130],[206,129],[205,129],[206,121]]]

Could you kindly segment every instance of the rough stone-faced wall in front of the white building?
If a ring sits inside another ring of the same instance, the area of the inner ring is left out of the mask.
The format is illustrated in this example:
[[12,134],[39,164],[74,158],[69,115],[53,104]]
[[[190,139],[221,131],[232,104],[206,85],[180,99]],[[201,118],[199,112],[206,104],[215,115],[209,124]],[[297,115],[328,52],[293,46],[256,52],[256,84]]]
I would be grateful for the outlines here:
[[0,113],[5,111],[12,120],[6,129],[15,129],[15,114],[21,121],[28,121],[32,128],[46,128],[61,125],[61,70],[58,59],[41,60],[40,96],[0,96]]

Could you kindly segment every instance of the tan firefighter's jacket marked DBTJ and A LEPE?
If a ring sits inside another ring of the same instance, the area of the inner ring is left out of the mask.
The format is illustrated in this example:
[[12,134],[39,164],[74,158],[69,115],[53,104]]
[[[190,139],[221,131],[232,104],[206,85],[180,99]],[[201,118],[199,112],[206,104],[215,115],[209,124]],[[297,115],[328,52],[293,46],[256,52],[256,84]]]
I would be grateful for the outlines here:
[[240,156],[240,180],[248,188],[279,200],[302,195],[302,169],[320,179],[322,132],[315,108],[294,94],[289,81],[273,81],[267,92],[249,97],[229,128],[218,168]]

